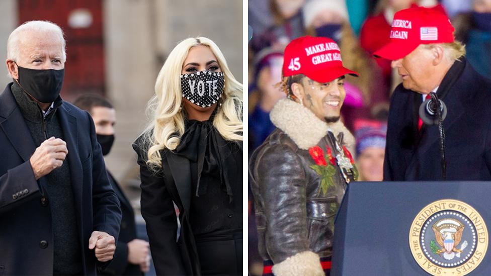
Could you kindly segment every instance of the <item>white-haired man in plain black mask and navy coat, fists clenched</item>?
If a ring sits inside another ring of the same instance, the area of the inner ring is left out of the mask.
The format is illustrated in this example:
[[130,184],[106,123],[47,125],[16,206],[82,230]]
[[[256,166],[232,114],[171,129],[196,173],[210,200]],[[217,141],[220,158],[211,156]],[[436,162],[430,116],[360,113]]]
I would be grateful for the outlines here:
[[92,118],[59,96],[61,29],[30,21],[7,42],[0,95],[0,273],[94,275],[113,258],[121,210]]

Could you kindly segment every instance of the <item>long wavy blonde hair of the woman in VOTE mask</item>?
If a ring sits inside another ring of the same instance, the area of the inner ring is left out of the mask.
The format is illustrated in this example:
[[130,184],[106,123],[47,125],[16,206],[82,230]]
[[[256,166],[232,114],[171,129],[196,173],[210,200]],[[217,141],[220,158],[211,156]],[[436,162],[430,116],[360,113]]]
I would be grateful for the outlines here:
[[213,126],[229,141],[243,141],[242,84],[230,72],[225,57],[218,46],[206,37],[187,38],[171,51],[158,73],[155,95],[147,105],[150,121],[143,132],[143,144],[138,145],[147,154],[146,164],[153,170],[162,167],[160,151],[174,150],[184,133],[184,109],[181,109],[181,72],[189,49],[204,45],[216,56],[218,65],[225,76],[222,106],[218,107]]

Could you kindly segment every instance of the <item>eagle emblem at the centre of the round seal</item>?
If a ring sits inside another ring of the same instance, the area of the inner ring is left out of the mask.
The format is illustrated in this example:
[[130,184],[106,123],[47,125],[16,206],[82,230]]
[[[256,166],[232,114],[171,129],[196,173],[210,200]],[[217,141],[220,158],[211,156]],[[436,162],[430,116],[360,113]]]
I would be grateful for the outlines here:
[[464,225],[456,219],[446,218],[437,221],[433,224],[432,229],[440,247],[432,240],[430,243],[432,252],[447,260],[451,260],[454,257],[460,258],[460,253],[467,247],[467,241],[463,241],[460,248],[457,248],[462,240],[464,228]]

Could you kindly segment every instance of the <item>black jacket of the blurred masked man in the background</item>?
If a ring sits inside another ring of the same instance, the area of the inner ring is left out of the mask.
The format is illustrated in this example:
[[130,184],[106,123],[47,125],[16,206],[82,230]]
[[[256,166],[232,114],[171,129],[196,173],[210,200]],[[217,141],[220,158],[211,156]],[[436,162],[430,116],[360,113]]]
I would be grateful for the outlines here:
[[101,271],[101,275],[142,275],[140,266],[128,262],[128,242],[136,239],[135,213],[128,198],[123,193],[118,182],[108,171],[109,182],[121,203],[121,229],[119,231],[116,251],[111,263]]

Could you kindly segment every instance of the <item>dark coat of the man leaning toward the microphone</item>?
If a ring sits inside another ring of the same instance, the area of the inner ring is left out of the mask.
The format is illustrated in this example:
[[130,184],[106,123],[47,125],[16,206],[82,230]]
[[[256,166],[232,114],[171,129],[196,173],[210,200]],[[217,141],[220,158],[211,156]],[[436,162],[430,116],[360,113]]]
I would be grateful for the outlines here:
[[[491,80],[462,58],[442,80],[438,97],[448,108],[447,180],[491,180]],[[399,84],[392,95],[384,180],[442,180],[437,125],[418,131],[421,94]]]

